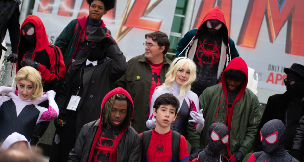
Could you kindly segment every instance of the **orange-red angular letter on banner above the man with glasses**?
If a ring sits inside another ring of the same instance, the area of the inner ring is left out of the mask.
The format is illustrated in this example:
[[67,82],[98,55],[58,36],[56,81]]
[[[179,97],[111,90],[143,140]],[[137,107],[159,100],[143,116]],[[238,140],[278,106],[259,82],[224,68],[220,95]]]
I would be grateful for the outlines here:
[[149,3],[150,0],[135,0],[124,26],[158,31],[162,20],[146,17],[145,13]]

